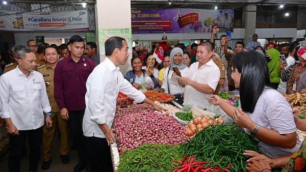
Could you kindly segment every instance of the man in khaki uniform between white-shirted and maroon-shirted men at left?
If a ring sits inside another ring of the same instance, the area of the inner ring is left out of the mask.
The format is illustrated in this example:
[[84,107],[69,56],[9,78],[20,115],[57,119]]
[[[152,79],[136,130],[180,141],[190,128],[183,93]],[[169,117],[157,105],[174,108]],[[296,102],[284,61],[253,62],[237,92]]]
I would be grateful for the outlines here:
[[68,157],[68,125],[67,122],[61,118],[60,108],[57,105],[54,99],[54,69],[57,65],[57,61],[59,58],[59,51],[55,46],[46,47],[43,51],[44,58],[47,62],[46,65],[38,67],[38,72],[43,75],[45,84],[46,84],[46,91],[49,98],[50,106],[52,107],[52,121],[53,126],[51,128],[47,128],[46,126],[43,127],[43,138],[42,138],[42,145],[43,145],[43,163],[41,168],[48,169],[52,162],[51,158],[51,147],[52,147],[52,140],[55,133],[55,126],[58,122],[60,131],[61,131],[61,146],[60,146],[60,153],[62,163],[66,164],[70,161]]

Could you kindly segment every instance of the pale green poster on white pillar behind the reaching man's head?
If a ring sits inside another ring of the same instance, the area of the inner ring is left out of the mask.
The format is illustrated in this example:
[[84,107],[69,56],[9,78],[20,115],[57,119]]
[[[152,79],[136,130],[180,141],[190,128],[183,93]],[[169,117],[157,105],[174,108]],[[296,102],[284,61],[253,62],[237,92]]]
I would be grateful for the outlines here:
[[132,32],[131,32],[131,28],[108,28],[108,29],[103,29],[100,28],[98,31],[99,34],[99,52],[100,55],[104,55],[105,54],[105,41],[107,41],[110,37],[121,37],[124,38],[126,43],[127,43],[127,47],[129,47],[129,49],[127,49],[127,51],[129,53],[132,53]]

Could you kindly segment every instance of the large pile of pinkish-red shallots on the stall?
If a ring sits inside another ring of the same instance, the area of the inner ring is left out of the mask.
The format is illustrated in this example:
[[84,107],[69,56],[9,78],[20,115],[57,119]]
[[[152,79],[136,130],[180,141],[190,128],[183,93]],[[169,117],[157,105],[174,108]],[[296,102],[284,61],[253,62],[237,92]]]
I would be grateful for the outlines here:
[[177,145],[186,142],[185,126],[167,114],[155,112],[148,104],[117,110],[114,125],[121,153],[145,143]]

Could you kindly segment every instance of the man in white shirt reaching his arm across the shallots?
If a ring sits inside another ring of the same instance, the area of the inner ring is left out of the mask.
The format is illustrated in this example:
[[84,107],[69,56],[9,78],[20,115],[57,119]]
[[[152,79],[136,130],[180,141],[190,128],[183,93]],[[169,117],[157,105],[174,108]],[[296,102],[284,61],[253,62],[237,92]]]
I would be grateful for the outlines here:
[[118,66],[126,63],[129,57],[127,48],[125,39],[109,38],[105,42],[105,61],[94,68],[86,82],[83,132],[89,148],[92,171],[113,171],[109,145],[115,140],[115,130],[111,129],[111,126],[119,91],[137,103],[148,103],[160,111],[163,109],[145,98],[141,91],[123,78]]

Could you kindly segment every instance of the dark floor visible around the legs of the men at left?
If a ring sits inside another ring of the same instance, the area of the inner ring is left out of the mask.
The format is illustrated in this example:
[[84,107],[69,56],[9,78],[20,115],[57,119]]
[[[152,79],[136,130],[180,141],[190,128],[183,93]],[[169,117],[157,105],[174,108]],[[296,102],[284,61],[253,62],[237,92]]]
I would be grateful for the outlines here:
[[[41,169],[41,164],[43,161],[43,158],[41,156],[37,171],[39,172],[68,172],[68,171],[71,172],[73,171],[74,166],[77,165],[79,162],[79,156],[78,156],[77,150],[69,150],[68,155],[70,158],[70,162],[67,164],[63,164],[60,158],[59,146],[60,146],[60,138],[58,138],[57,134],[55,134],[55,137],[53,139],[53,147],[52,147],[52,155],[51,155],[53,159],[53,162],[51,163],[51,167],[46,170]],[[0,160],[0,171],[1,172],[9,171],[8,170],[8,153]],[[23,157],[21,161],[21,168],[20,168],[20,172],[28,172],[28,171],[29,171],[29,151]],[[83,171],[85,172],[86,170],[84,169]]]

